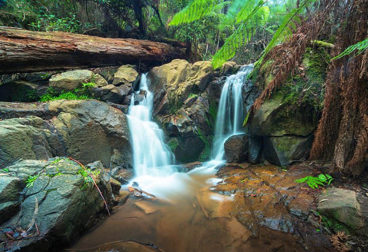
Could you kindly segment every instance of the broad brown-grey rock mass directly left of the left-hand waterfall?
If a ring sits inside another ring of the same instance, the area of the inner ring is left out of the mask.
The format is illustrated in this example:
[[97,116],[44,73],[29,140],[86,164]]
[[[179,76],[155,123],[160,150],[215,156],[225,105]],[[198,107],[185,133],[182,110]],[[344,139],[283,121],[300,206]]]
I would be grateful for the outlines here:
[[[109,167],[117,149],[124,157],[120,166],[132,167],[128,122],[121,111],[92,99],[55,100],[33,107],[38,106],[40,109],[31,109],[37,117],[0,121],[0,166],[20,158],[68,156],[86,164],[101,160]],[[12,109],[0,106],[0,111],[3,108]],[[26,108],[30,107],[16,110],[26,115]]]

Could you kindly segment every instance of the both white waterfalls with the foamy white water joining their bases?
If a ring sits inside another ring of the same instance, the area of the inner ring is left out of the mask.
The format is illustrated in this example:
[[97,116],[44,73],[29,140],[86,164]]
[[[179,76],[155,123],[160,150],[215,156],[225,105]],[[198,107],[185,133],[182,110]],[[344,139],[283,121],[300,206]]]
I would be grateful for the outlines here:
[[[173,166],[174,155],[164,143],[164,133],[152,121],[153,93],[148,90],[146,75],[142,75],[140,89],[147,91],[146,98],[139,105],[134,105],[133,95],[128,115],[136,175],[132,182],[136,181],[141,189],[173,202],[179,195],[185,196],[194,182],[193,177],[204,174],[214,176],[217,172],[215,167],[225,163],[225,140],[241,132],[244,120],[241,89],[252,69],[253,65],[245,66],[237,74],[227,77],[217,113],[213,159],[188,173],[178,173]],[[217,182],[217,179],[206,181],[210,185]]]

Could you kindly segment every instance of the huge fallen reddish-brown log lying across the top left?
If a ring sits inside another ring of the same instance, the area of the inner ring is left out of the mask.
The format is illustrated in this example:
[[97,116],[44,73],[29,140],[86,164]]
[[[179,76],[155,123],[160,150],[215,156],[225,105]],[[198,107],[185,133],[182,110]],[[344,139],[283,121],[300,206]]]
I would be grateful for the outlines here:
[[182,46],[69,32],[0,27],[0,74],[145,63],[185,58]]

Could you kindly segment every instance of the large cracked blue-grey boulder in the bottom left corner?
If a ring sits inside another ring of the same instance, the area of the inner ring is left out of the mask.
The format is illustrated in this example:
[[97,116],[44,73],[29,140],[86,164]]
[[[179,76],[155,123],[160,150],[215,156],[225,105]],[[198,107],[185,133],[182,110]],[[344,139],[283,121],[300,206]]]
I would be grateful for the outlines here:
[[[106,203],[112,206],[109,176],[101,163],[95,167],[88,172],[93,174]],[[1,225],[1,231],[11,226],[29,229],[29,237],[17,243],[9,239],[0,249],[47,251],[50,246],[68,245],[91,228],[105,210],[99,191],[85,170],[66,158],[22,160],[8,169],[10,174],[1,178],[6,181],[5,186],[1,183],[1,200],[17,204],[13,204],[12,212],[2,214],[0,223],[7,222]],[[32,185],[26,181],[30,176],[35,176]]]

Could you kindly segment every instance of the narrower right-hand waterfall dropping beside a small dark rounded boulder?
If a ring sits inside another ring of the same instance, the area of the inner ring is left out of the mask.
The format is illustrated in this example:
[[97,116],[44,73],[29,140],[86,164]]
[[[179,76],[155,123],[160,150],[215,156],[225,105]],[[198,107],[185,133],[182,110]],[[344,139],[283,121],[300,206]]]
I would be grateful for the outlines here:
[[226,78],[221,90],[220,103],[216,117],[212,158],[216,161],[224,159],[224,143],[231,135],[241,134],[244,121],[242,85],[253,70],[253,64],[243,66],[233,75]]

